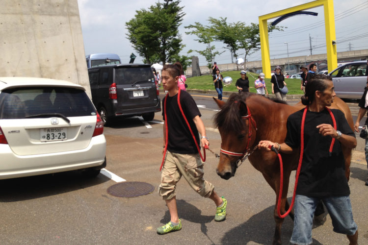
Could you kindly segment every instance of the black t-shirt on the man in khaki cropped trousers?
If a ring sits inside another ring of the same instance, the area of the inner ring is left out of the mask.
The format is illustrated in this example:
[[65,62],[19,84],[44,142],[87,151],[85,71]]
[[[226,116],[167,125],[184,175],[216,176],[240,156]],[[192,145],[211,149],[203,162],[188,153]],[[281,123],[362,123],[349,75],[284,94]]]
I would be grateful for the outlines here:
[[[162,99],[162,116],[165,120],[165,99],[166,103],[166,117],[168,126],[168,146],[167,149],[174,153],[181,154],[195,154],[198,153],[197,147],[193,140],[193,137],[189,131],[187,124],[183,118],[183,115],[179,109],[178,105],[178,94],[173,97],[165,97]],[[199,109],[194,101],[194,99],[188,94],[188,92],[180,91],[180,104],[182,105],[184,115],[188,121],[193,134],[200,146],[199,134],[193,118],[196,116],[201,116]]]

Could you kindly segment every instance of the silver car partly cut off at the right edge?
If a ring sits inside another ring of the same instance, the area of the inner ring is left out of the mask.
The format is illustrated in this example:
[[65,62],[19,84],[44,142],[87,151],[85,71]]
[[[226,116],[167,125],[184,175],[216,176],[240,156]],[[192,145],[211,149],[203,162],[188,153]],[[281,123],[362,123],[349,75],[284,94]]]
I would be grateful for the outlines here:
[[347,63],[330,73],[336,95],[340,98],[360,99],[367,83],[367,61]]

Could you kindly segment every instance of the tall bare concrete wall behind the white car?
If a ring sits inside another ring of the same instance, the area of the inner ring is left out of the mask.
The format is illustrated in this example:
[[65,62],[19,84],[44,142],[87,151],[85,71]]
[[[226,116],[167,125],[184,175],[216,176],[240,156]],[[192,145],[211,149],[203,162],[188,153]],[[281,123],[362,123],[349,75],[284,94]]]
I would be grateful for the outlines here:
[[77,0],[1,0],[0,76],[78,83],[90,96]]

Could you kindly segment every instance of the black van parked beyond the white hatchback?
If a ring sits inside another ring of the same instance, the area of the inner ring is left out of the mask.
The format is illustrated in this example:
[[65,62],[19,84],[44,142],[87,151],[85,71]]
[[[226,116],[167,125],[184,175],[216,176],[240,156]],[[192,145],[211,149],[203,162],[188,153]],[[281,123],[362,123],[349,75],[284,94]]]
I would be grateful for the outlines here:
[[104,123],[115,117],[153,120],[161,111],[158,84],[149,64],[118,64],[88,69],[92,101]]

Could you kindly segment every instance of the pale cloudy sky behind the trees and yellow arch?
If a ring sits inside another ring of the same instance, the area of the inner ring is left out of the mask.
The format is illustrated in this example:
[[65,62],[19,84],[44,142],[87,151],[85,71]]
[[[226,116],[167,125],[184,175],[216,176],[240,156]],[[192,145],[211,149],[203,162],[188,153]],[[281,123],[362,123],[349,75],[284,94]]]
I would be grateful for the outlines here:
[[[134,18],[136,10],[148,9],[159,0],[78,0],[79,15],[82,26],[85,54],[116,53],[122,63],[128,63],[131,53],[137,58],[134,63],[142,63],[142,58],[132,48],[127,39],[126,22]],[[161,0],[161,2],[163,2]],[[258,24],[258,17],[289,7],[307,3],[302,0],[182,0],[184,6],[184,20],[179,27],[185,48],[180,54],[188,55],[189,49],[204,50],[206,46],[194,39],[194,35],[186,35],[188,29],[184,26],[199,22],[209,25],[209,17],[227,18],[228,23],[244,22]],[[257,3],[257,4],[255,4]],[[269,33],[270,58],[285,58],[288,56],[310,55],[326,53],[326,37],[324,31],[323,6],[309,9],[317,12],[318,16],[299,15],[290,17],[279,26],[284,31]],[[368,49],[368,0],[334,0],[334,15],[336,27],[337,51]],[[275,19],[273,19],[275,20]],[[272,22],[270,20],[269,22]],[[285,44],[287,43],[287,44]],[[235,62],[229,49],[221,42],[213,42],[215,49],[225,51],[215,57],[217,64]],[[199,65],[207,65],[206,59],[194,52],[199,58]],[[239,57],[244,58],[244,51],[238,51]],[[261,52],[257,51],[247,56],[248,61],[261,60]]]

